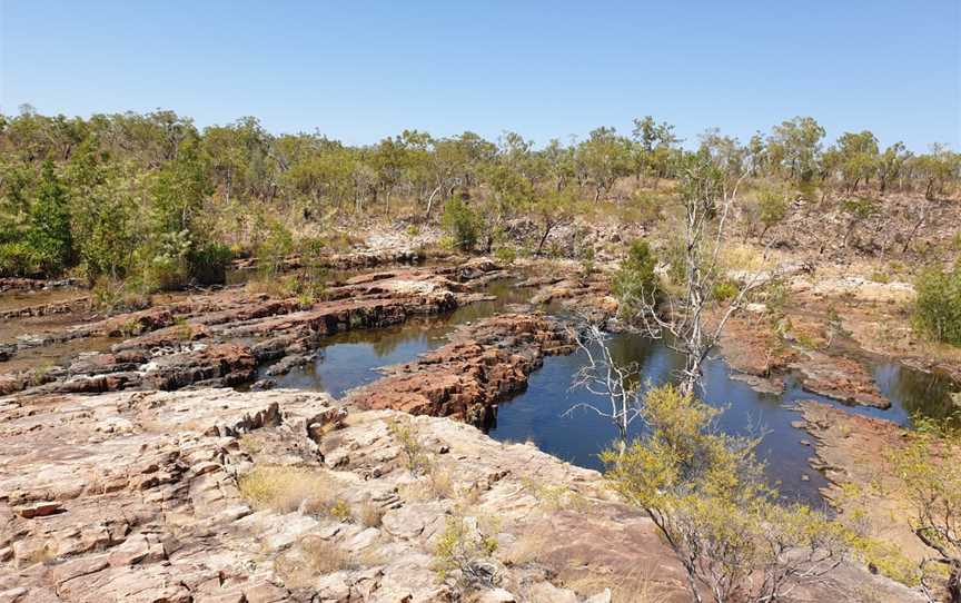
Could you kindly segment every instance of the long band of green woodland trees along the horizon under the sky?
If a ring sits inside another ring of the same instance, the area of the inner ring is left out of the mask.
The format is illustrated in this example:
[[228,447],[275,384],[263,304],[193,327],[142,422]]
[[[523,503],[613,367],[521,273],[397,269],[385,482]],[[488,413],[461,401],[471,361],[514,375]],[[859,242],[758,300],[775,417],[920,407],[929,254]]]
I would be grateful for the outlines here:
[[961,179],[961,155],[942,147],[882,149],[869,131],[825,147],[824,135],[814,119],[795,118],[746,144],[709,130],[687,151],[672,126],[645,117],[628,136],[598,128],[542,148],[513,132],[495,142],[414,130],[351,147],[320,134],[275,136],[255,118],[201,130],[171,111],[81,119],[23,108],[0,115],[0,273],[76,268],[91,281],[136,276],[176,287],[216,279],[281,218],[323,225],[403,206],[430,219],[452,199],[453,231],[459,225],[469,239],[457,245],[489,251],[508,219],[531,216],[543,246],[581,201],[620,198],[625,178],[673,179],[692,161],[845,192],[935,197]]

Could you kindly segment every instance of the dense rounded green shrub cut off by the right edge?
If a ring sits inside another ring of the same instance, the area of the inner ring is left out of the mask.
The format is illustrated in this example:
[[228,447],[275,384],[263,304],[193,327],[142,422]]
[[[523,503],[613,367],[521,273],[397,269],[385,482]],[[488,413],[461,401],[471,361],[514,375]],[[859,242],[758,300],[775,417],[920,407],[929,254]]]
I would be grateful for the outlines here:
[[939,342],[961,346],[961,261],[951,270],[924,268],[914,286],[915,325]]

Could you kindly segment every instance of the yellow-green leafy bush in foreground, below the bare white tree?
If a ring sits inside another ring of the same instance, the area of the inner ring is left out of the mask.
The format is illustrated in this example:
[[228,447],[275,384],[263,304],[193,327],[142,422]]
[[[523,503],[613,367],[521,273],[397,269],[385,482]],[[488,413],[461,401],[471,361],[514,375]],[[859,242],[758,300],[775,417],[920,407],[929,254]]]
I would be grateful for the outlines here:
[[606,477],[654,522],[695,601],[702,587],[715,603],[776,601],[845,558],[848,532],[808,506],[779,505],[759,441],[719,433],[719,409],[666,385],[640,412],[646,433],[602,455]]

